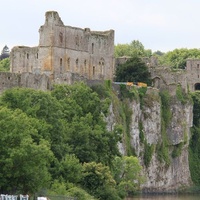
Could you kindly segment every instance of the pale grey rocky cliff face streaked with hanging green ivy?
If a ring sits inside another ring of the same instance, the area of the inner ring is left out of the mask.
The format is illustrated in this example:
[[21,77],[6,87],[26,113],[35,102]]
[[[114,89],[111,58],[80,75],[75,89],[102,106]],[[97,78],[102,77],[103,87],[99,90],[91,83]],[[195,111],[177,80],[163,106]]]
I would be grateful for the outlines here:
[[[139,158],[146,182],[144,192],[176,192],[191,184],[188,143],[192,126],[192,103],[181,103],[171,96],[170,120],[166,128],[163,119],[161,97],[157,89],[148,88],[141,101],[129,101],[132,111],[129,124],[130,145]],[[110,107],[107,118],[108,128],[112,129],[117,117]],[[126,154],[127,143],[119,144],[122,154]]]

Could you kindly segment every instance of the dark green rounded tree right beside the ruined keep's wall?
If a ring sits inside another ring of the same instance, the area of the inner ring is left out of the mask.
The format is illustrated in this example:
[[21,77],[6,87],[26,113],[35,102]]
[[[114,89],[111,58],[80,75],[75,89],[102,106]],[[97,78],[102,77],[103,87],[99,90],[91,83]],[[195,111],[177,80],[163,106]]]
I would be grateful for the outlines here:
[[120,82],[144,82],[151,85],[148,67],[138,56],[134,56],[126,63],[117,67],[115,81]]

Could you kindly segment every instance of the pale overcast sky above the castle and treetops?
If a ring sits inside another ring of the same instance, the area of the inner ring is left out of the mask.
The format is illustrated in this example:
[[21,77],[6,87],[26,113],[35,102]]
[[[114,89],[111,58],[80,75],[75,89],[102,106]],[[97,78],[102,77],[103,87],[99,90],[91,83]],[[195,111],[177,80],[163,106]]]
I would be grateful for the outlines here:
[[162,52],[200,48],[200,0],[2,0],[0,51],[5,45],[37,46],[49,10],[65,25],[115,30],[115,44],[139,40]]

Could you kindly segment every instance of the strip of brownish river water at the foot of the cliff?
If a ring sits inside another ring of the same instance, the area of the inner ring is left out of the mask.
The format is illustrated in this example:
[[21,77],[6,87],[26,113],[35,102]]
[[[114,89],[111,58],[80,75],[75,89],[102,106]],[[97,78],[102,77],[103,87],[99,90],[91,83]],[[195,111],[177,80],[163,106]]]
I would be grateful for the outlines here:
[[126,198],[126,200],[200,200],[200,194],[195,195],[146,195],[133,198]]

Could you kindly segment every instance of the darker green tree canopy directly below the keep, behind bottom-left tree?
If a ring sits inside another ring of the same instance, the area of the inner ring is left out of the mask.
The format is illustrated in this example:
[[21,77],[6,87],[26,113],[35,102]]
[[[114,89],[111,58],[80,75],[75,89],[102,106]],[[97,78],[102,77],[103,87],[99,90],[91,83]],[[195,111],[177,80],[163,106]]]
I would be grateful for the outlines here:
[[120,137],[107,131],[100,98],[83,83],[54,86],[52,92],[13,88],[2,94],[0,104],[21,109],[48,124],[44,138],[51,141],[59,161],[72,153],[82,163],[96,161],[109,165],[119,155]]

